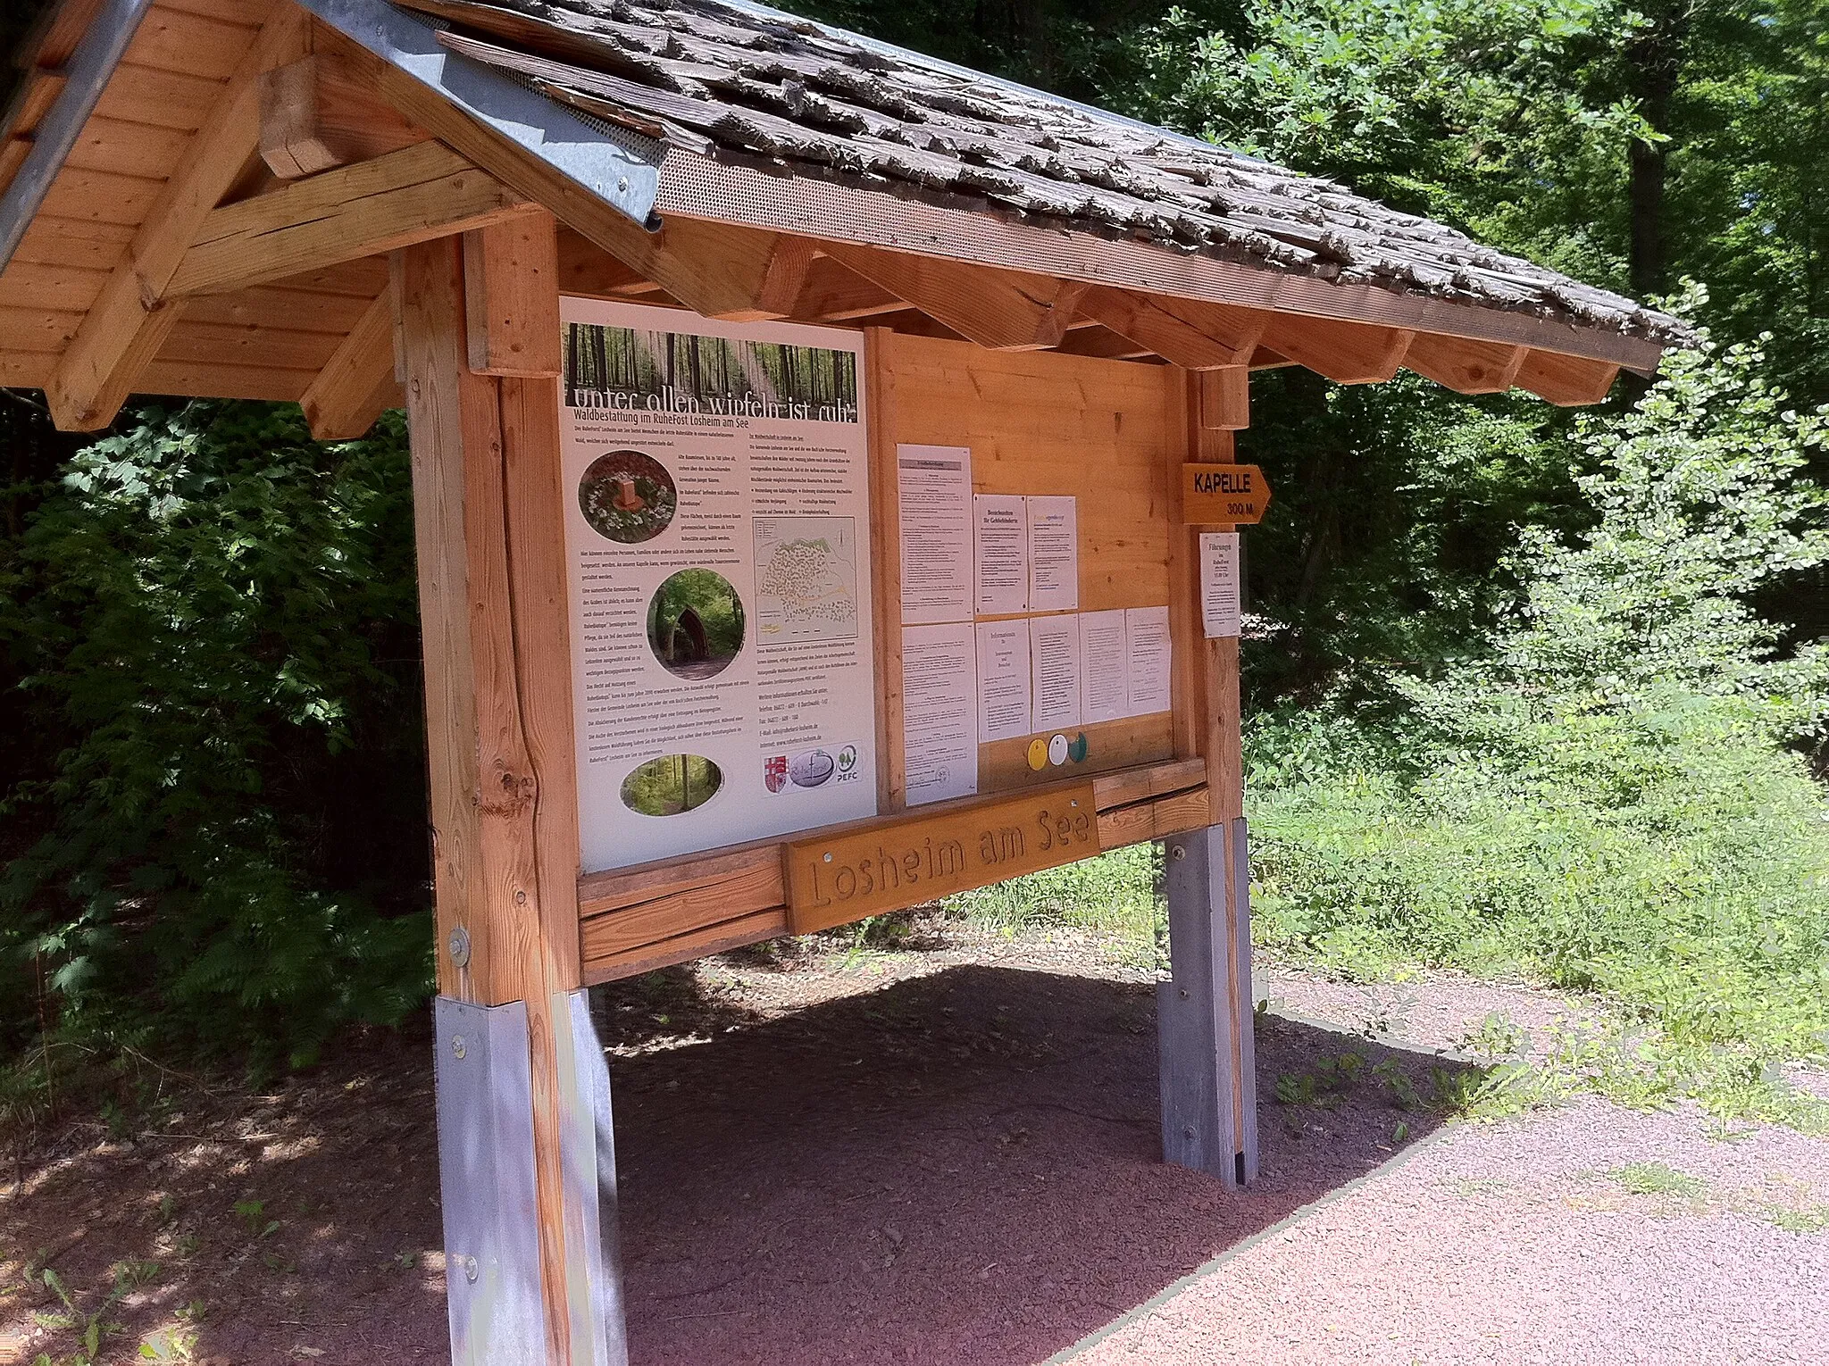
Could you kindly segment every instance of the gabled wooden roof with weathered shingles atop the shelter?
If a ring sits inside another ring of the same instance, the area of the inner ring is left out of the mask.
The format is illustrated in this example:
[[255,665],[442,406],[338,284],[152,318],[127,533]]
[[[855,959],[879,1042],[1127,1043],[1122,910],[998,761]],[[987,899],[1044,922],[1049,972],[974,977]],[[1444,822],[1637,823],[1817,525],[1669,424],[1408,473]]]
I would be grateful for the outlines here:
[[[722,0],[64,0],[0,139],[0,382],[397,400],[386,252],[993,347],[1595,402],[1683,325],[1328,181]],[[128,37],[130,35],[130,37]],[[658,230],[657,230],[658,229]]]

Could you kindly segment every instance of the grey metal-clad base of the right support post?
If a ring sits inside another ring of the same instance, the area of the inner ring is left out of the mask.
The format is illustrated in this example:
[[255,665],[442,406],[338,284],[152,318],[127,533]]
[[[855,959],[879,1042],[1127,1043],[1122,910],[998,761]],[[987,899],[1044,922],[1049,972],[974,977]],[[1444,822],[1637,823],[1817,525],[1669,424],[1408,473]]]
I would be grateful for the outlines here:
[[1251,907],[1244,819],[1163,841],[1169,971],[1156,984],[1163,1159],[1257,1178]]

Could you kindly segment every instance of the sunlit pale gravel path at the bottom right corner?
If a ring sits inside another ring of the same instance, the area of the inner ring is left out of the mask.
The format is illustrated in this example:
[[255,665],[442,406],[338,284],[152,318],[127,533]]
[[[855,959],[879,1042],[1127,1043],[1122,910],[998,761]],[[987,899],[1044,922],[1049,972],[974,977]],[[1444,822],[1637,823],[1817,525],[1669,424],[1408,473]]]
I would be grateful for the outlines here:
[[1454,1126],[1059,1357],[1824,1362],[1829,1143],[1588,1099]]

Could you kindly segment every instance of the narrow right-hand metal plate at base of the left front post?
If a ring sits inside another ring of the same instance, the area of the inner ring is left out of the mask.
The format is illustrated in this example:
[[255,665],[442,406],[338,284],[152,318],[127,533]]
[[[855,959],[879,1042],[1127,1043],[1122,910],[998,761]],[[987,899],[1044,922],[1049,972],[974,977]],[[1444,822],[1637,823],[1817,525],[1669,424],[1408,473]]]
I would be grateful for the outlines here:
[[565,1302],[572,1362],[627,1366],[622,1254],[616,1242],[616,1132],[609,1066],[589,991],[552,993],[558,1026],[560,1163],[565,1170]]

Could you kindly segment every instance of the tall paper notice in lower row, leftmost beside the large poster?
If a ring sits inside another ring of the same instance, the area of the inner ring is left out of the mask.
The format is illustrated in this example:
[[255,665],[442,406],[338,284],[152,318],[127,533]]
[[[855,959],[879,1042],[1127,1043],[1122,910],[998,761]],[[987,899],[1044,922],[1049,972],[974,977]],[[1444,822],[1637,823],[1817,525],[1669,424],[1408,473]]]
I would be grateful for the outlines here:
[[902,631],[902,770],[909,806],[979,790],[977,673],[971,622]]

